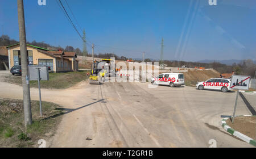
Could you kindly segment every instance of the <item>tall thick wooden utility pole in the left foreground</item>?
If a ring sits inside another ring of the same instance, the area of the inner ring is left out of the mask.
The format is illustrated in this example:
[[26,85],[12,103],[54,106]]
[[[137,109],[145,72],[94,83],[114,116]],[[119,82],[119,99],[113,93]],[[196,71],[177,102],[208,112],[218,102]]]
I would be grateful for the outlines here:
[[27,68],[27,44],[26,44],[26,30],[24,22],[23,0],[17,0],[18,4],[18,21],[19,21],[19,45],[20,58],[22,65],[22,87],[23,87],[23,108],[25,127],[32,123],[31,103],[30,103],[30,83],[28,79]]

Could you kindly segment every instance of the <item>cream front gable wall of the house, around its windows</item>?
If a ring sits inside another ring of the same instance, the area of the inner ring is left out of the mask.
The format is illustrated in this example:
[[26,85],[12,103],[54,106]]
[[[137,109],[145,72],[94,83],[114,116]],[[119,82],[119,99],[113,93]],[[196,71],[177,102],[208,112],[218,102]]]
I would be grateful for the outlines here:
[[[18,46],[14,46],[14,47],[10,47],[9,51],[10,51],[10,66],[13,67],[14,65],[14,59],[13,59],[13,51],[14,50],[20,50],[19,45]],[[48,55],[45,55],[44,53],[38,52],[37,49],[27,46],[27,50],[31,50],[33,53],[33,64],[34,65],[38,65],[38,59],[52,59],[53,60],[53,70],[55,70],[55,57],[51,57]]]

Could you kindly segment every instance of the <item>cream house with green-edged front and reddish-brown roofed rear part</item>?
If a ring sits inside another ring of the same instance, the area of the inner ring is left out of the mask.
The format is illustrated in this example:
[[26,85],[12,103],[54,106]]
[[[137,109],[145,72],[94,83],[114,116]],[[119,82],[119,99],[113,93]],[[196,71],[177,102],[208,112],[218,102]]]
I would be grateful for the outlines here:
[[[9,68],[20,65],[20,47],[14,44],[8,49]],[[79,69],[75,52],[52,51],[27,44],[28,65],[46,65],[50,72],[71,72]]]

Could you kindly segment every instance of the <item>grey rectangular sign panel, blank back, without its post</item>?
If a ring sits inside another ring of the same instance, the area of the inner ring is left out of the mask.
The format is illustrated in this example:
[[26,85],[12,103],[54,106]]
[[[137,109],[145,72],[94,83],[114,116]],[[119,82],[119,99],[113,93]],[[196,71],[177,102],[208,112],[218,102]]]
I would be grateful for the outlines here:
[[49,81],[49,72],[48,66],[45,65],[28,65],[28,76],[30,77],[30,81],[38,81],[40,71],[40,80]]

